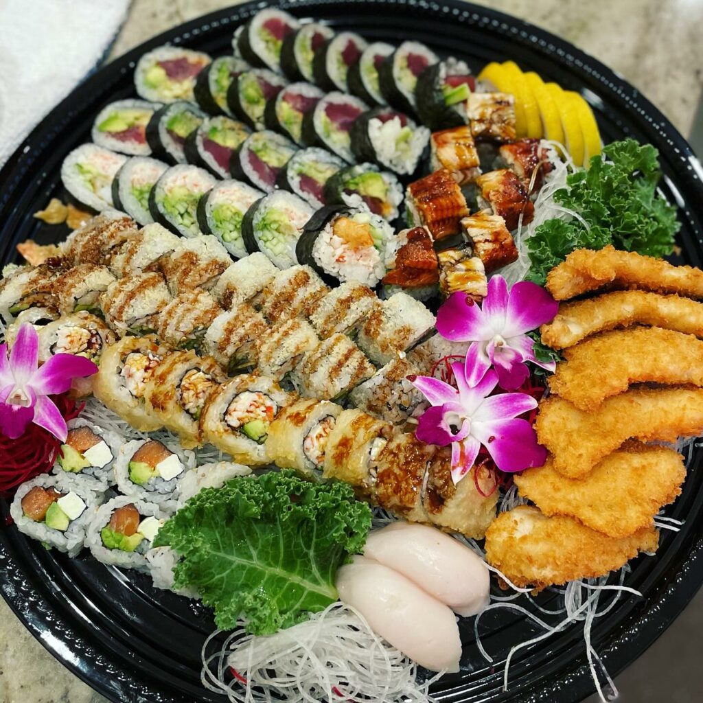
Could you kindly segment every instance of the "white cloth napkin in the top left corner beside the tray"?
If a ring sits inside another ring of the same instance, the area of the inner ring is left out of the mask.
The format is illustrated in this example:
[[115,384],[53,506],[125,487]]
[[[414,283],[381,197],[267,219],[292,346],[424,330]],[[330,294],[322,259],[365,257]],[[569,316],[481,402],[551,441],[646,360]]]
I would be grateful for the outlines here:
[[0,166],[110,46],[129,0],[0,0]]

